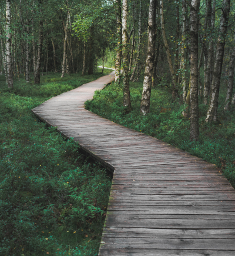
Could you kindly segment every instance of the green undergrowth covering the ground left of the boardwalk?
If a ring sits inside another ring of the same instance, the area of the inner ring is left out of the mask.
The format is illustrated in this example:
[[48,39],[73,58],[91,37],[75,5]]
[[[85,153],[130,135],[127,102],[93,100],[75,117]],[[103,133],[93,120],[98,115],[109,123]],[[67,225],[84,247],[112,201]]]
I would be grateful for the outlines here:
[[0,255],[98,255],[112,178],[31,109],[100,70],[50,73],[41,85],[21,76],[12,90],[0,76]]

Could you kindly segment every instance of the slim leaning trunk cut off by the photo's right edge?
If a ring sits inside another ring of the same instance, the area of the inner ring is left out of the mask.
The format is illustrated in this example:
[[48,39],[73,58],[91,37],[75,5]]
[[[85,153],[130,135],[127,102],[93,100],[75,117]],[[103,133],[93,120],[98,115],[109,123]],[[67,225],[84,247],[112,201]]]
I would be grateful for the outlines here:
[[[235,36],[234,36],[234,40],[235,40]],[[235,67],[235,46],[233,46],[230,62],[229,62],[229,81],[228,81],[227,95],[226,95],[226,101],[225,101],[225,107],[224,107],[225,110],[230,110],[230,106],[231,106],[231,97],[233,94],[234,67]]]

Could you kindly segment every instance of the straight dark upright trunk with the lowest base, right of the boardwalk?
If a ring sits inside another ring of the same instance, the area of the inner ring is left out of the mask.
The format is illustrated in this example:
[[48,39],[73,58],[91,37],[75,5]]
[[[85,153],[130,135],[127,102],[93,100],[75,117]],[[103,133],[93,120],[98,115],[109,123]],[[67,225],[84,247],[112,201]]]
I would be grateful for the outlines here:
[[199,102],[198,102],[198,12],[200,0],[193,0],[190,6],[190,140],[199,140]]

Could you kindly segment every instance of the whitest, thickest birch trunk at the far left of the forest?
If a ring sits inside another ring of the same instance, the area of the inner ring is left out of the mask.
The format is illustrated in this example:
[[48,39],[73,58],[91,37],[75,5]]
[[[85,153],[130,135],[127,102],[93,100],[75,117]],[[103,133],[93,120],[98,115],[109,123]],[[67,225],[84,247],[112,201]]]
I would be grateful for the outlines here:
[[11,38],[11,0],[6,0],[6,67],[8,76],[8,88],[13,88]]

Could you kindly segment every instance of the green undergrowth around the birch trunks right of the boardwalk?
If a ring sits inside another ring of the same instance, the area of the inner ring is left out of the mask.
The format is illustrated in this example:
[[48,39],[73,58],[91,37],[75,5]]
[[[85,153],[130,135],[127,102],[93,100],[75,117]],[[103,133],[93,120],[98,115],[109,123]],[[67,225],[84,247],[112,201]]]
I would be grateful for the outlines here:
[[[113,82],[102,91],[96,91],[94,99],[85,103],[85,108],[216,164],[235,187],[235,111],[224,112],[224,105],[220,104],[219,124],[206,124],[207,106],[200,99],[200,141],[192,142],[189,139],[190,120],[182,115],[185,107],[179,100],[172,100],[165,85],[152,89],[150,114],[146,116],[140,115],[143,77],[140,82],[130,83],[133,110],[129,114],[123,108],[122,88],[122,83]],[[219,102],[225,102],[225,93],[222,88]]]

